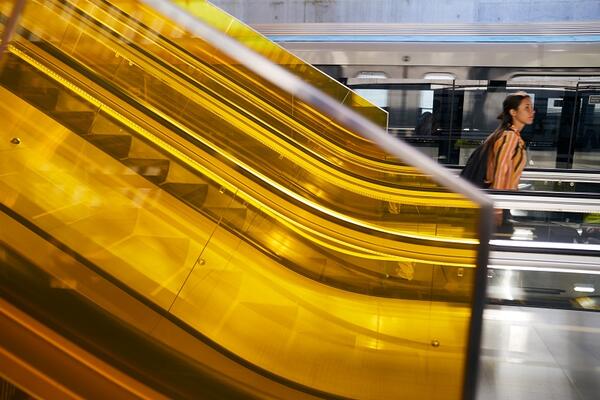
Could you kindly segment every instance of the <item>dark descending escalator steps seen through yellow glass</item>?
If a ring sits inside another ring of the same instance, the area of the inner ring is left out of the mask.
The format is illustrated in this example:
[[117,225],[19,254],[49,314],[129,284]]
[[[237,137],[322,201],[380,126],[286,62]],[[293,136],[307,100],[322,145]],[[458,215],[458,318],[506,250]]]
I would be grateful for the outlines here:
[[[25,55],[22,57],[26,58]],[[421,292],[429,291],[430,283],[426,279],[419,285],[421,287],[417,292],[412,295],[407,294],[407,286],[417,287],[417,282],[413,281],[407,285],[406,279],[394,276],[394,269],[397,268],[398,262],[385,259],[357,259],[340,251],[324,252],[324,249],[315,249],[314,244],[311,244],[302,235],[288,232],[285,228],[278,228],[277,221],[269,218],[268,215],[261,214],[255,207],[252,207],[251,203],[236,196],[233,189],[224,186],[226,182],[221,181],[223,184],[219,185],[217,182],[211,181],[211,175],[201,175],[198,171],[187,169],[181,161],[169,159],[163,154],[164,150],[161,153],[160,146],[153,147],[151,143],[139,137],[140,129],[135,131],[128,128],[135,124],[131,120],[124,119],[120,114],[118,118],[121,119],[121,122],[115,120],[111,115],[116,117],[116,111],[109,109],[106,105],[103,105],[100,112],[95,112],[94,107],[102,104],[101,100],[91,98],[89,93],[81,93],[87,97],[88,100],[86,100],[84,97],[69,92],[67,86],[58,85],[56,81],[52,82],[40,71],[36,71],[30,64],[25,63],[23,59],[10,57],[6,65],[8,72],[2,75],[0,82],[4,82],[14,93],[43,110],[47,116],[70,128],[92,147],[118,160],[119,163],[111,166],[107,174],[116,173],[117,176],[122,176],[121,179],[125,179],[125,182],[115,183],[117,187],[123,186],[122,190],[125,193],[127,193],[127,184],[133,184],[135,188],[142,190],[145,196],[159,197],[164,196],[163,192],[169,193],[190,208],[202,212],[215,223],[237,231],[246,240],[259,245],[268,254],[285,259],[290,268],[324,283],[361,293],[377,293],[392,297],[413,296],[418,298],[422,296]],[[22,87],[21,81],[29,86]],[[37,86],[31,86],[33,84]],[[26,108],[8,92],[5,93],[5,98],[6,104],[19,104],[20,108]],[[10,110],[5,109],[6,120],[11,119],[10,114]],[[14,118],[14,116],[12,117]],[[20,117],[17,121],[21,121]],[[7,138],[7,140],[12,140],[12,138]],[[18,140],[26,144],[31,138],[21,137]],[[14,148],[20,146],[22,146],[21,143],[12,144]],[[80,144],[75,145],[74,149],[70,149],[70,153],[75,153],[78,146]],[[204,160],[208,160],[209,155],[205,154],[202,157]],[[214,165],[217,160],[211,162]],[[104,159],[97,163],[104,165],[99,171],[100,174],[109,165],[108,161]],[[225,168],[227,168],[226,165],[220,167],[220,169]],[[133,173],[140,175],[145,180],[130,176]],[[210,171],[207,171],[207,174],[210,174]],[[14,193],[22,192],[18,186],[20,181],[6,184],[10,185],[6,189],[7,193],[10,193],[11,189]],[[94,183],[94,185],[98,184]],[[254,188],[253,190],[258,189]],[[32,193],[31,196],[35,197],[35,194]],[[111,207],[114,206],[114,203],[111,204]],[[287,205],[286,208],[300,210],[299,207],[293,208],[292,205]],[[119,213],[129,216],[132,220],[135,219],[135,213],[130,213],[127,208]],[[114,215],[119,213],[112,212]],[[321,229],[324,229],[327,223],[319,223]],[[124,225],[126,226],[126,224]],[[277,238],[284,236],[288,242],[287,249],[279,249],[277,254],[268,250],[269,242],[280,240]],[[385,238],[383,239],[385,240]],[[185,248],[187,243],[184,241],[181,246]],[[312,269],[303,267],[306,265],[306,259],[313,259],[316,267]],[[389,277],[389,275],[392,276]]]

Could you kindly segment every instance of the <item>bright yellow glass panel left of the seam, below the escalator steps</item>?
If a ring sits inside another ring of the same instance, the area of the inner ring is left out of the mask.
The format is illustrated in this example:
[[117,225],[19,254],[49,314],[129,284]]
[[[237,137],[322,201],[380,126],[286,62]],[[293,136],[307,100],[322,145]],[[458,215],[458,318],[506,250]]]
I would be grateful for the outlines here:
[[[190,217],[110,155],[6,89],[0,100],[10,128],[1,133],[0,201],[152,301],[171,304],[207,233],[177,229]],[[55,112],[90,113],[62,106]]]

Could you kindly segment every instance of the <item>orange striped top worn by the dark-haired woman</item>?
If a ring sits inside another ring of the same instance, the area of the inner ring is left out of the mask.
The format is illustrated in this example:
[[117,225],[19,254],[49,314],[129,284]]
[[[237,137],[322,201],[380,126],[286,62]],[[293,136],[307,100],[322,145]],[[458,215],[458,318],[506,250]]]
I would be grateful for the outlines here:
[[488,157],[486,181],[490,189],[517,190],[527,155],[517,131],[506,130],[494,143]]

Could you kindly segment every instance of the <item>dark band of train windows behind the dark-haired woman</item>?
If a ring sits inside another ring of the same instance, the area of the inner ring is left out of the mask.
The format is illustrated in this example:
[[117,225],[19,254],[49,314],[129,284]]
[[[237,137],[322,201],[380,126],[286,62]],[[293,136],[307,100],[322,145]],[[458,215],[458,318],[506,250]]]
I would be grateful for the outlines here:
[[[518,77],[505,86],[484,80],[363,79],[354,90],[389,112],[389,131],[433,159],[464,165],[491,132],[508,93],[530,94],[536,114],[522,136],[528,168],[597,169],[600,165],[600,79]],[[446,79],[444,79],[446,78]]]

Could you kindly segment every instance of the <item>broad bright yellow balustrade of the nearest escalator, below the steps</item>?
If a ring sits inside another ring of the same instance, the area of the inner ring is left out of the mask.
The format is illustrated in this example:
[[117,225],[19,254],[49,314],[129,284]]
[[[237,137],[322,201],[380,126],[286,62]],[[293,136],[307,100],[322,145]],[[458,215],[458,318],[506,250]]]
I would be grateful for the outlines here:
[[[468,321],[462,316],[469,303],[461,307],[458,300],[365,298],[278,267],[273,257],[225,226],[174,204],[178,200],[79,135],[16,98],[9,100],[3,104],[18,106],[20,112],[11,120],[5,111],[4,120],[17,130],[25,129],[19,133],[20,144],[9,144],[23,146],[21,154],[4,158],[11,168],[3,170],[2,203],[20,220],[45,232],[47,241],[72,249],[121,286],[252,365],[317,391],[368,398],[403,390],[409,396],[425,393],[436,398],[439,395],[428,389],[431,382],[421,380],[423,376],[437,380],[441,374],[454,376],[450,382],[461,381],[462,370],[452,366],[462,362]],[[26,131],[31,133],[26,136]],[[3,143],[9,143],[10,136],[3,137]],[[7,229],[2,230],[2,240],[18,246],[21,257],[39,256],[35,261],[59,271],[69,266],[62,257],[40,253],[38,245],[33,247],[29,238],[19,234],[20,228],[8,225],[14,221],[3,222]],[[190,268],[183,269],[185,265]],[[74,268],[74,273],[85,273]],[[451,288],[447,272],[438,267],[429,273],[441,289]],[[84,279],[62,280],[69,286]],[[461,286],[460,277],[454,282]],[[430,290],[430,298],[436,292]],[[100,294],[110,301],[110,292],[100,290]],[[3,297],[7,296],[3,290]],[[112,303],[111,311],[115,307],[123,306]],[[136,314],[127,309],[120,312],[128,319]],[[426,319],[419,322],[417,316]],[[437,328],[430,325],[430,318]],[[429,345],[431,329],[440,347]],[[190,345],[186,353],[194,348]],[[379,348],[386,350],[376,351]],[[436,353],[438,348],[442,351]],[[336,368],[308,379],[312,375],[306,371],[322,365],[323,354]],[[423,357],[435,360],[422,363]],[[371,373],[365,373],[365,368]],[[407,369],[412,372],[406,373]],[[374,389],[367,384],[373,379],[390,384]],[[435,388],[447,394],[460,385]]]

